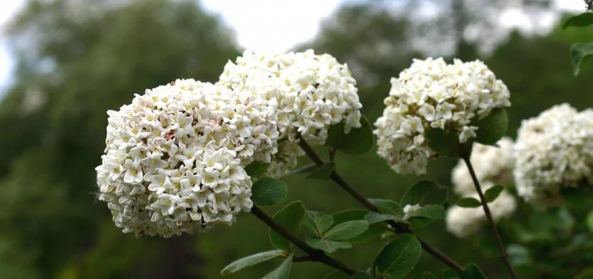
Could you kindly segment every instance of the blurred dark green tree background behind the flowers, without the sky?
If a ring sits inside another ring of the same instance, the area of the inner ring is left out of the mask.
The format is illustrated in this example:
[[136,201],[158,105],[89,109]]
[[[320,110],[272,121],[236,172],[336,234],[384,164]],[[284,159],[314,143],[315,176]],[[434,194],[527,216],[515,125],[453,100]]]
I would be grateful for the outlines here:
[[[566,102],[581,110],[593,104],[591,63],[585,61],[574,77],[569,60],[571,43],[592,40],[593,29],[525,33],[500,26],[500,11],[509,5],[534,18],[560,13],[548,1],[430,1],[437,7],[432,17],[423,17],[420,2],[346,1],[314,40],[295,50],[312,47],[348,63],[370,121],[382,113],[389,78],[413,57],[428,55],[486,61],[511,90],[513,137],[522,119],[552,105]],[[234,259],[271,250],[267,227],[248,214],[211,233],[135,239],[122,234],[96,200],[94,167],[105,148],[105,112],[179,77],[216,82],[226,61],[242,52],[219,17],[189,0],[36,0],[5,31],[17,71],[0,99],[0,278],[220,278],[220,269]],[[338,155],[337,163],[368,197],[399,199],[424,178],[395,174],[374,152]],[[436,161],[427,177],[449,186],[455,163]],[[308,209],[359,206],[332,183],[303,176],[286,181],[288,200],[301,199]],[[529,212],[521,206],[517,218]],[[460,240],[436,222],[418,234],[458,262],[476,262],[490,278],[504,278],[495,248],[484,244],[492,242],[487,229]],[[364,267],[382,245],[371,241],[336,256]],[[279,261],[227,278],[260,278]],[[425,253],[407,278],[444,267]],[[292,278],[323,278],[330,271],[299,263]],[[543,267],[520,273],[559,278]]]

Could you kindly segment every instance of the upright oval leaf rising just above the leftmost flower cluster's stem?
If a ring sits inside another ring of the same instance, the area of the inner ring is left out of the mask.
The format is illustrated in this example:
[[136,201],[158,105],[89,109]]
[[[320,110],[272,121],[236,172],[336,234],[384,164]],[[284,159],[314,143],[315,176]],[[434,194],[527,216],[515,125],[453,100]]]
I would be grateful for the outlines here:
[[[303,206],[301,201],[296,201],[278,211],[278,213],[273,216],[273,220],[281,227],[284,227],[288,232],[298,235],[304,217],[305,206]],[[278,232],[273,231],[273,229],[270,229],[270,241],[274,247],[280,250],[290,251],[290,241],[278,234]]]

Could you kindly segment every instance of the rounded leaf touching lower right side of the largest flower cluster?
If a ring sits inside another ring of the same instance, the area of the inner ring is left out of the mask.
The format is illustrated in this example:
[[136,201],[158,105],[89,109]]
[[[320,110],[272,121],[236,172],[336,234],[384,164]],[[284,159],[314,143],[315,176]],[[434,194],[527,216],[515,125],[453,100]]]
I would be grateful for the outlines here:
[[286,199],[288,186],[284,181],[262,177],[251,187],[251,200],[259,206],[280,204]]

